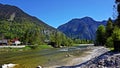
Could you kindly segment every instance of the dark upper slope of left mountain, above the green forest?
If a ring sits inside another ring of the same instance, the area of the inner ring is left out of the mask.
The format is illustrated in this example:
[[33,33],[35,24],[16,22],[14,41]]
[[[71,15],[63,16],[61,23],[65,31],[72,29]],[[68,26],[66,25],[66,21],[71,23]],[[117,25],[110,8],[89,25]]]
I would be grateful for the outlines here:
[[34,24],[54,29],[53,27],[47,25],[38,18],[30,16],[29,14],[22,11],[20,8],[12,5],[0,4],[0,20],[14,21],[17,23],[24,23],[25,21],[30,21]]

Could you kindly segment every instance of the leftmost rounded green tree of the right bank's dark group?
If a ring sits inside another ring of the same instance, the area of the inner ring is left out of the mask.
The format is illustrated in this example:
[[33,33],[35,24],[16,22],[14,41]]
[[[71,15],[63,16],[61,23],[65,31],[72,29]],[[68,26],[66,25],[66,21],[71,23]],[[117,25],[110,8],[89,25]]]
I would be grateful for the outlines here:
[[105,41],[105,27],[100,25],[96,31],[96,45],[104,45]]

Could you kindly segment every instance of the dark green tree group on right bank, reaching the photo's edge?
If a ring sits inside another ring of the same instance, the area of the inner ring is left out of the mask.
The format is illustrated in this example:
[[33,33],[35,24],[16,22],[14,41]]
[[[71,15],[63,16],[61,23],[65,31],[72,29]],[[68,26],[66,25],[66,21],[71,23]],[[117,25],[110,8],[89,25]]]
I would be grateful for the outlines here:
[[113,21],[110,18],[107,25],[100,25],[96,31],[96,45],[113,47],[115,51],[120,51],[120,1],[116,0],[117,18]]

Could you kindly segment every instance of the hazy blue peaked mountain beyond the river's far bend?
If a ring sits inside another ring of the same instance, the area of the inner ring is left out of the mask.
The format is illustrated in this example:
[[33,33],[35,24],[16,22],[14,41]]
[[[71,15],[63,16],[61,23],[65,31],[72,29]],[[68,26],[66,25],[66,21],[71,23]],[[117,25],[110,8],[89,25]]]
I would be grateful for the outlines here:
[[73,39],[94,40],[99,25],[106,25],[106,21],[95,21],[90,17],[72,19],[57,29]]

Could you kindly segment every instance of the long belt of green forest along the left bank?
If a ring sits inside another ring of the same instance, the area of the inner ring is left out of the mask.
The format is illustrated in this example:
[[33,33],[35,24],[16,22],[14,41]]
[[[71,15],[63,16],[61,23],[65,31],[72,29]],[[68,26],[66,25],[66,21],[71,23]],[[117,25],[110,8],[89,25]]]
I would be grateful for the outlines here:
[[54,47],[71,46],[73,41],[58,30],[37,25],[31,21],[0,20],[0,40],[19,39],[25,45],[54,43]]

